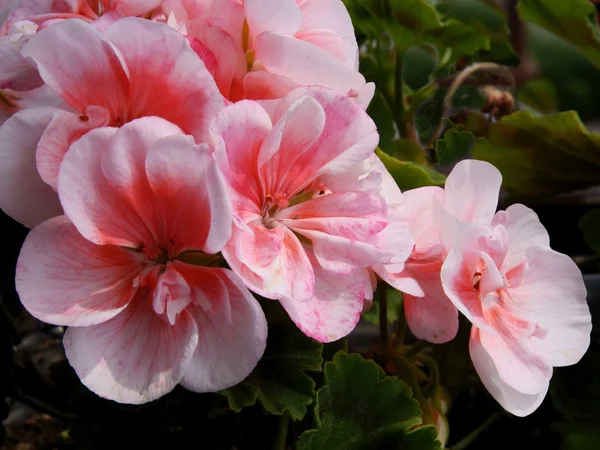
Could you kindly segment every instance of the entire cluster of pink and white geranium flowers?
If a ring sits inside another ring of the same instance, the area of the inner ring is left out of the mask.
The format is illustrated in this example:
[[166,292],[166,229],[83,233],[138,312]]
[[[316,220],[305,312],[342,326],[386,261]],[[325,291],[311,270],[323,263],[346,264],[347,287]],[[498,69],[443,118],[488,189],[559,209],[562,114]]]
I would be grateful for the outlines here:
[[531,210],[496,213],[495,168],[400,192],[341,0],[14,0],[0,23],[0,207],[33,228],[17,290],[97,394],[233,386],[265,349],[250,291],[330,342],[377,278],[421,339],[464,314],[515,414],[587,349],[579,270]]

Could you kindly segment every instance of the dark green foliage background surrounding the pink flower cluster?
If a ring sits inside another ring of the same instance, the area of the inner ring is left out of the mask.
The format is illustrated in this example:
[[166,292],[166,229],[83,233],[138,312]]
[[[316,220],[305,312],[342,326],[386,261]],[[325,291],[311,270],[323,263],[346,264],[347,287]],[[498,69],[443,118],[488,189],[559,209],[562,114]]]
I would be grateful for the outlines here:
[[[443,185],[463,158],[492,162],[504,177],[502,206],[534,208],[552,246],[587,274],[598,323],[598,2],[344,3],[360,45],[360,70],[377,86],[368,113],[379,129],[378,154],[399,186]],[[22,309],[13,280],[27,230],[4,215],[1,220],[0,389],[6,402],[0,415],[7,419],[0,439],[7,450],[440,450],[436,436],[444,440],[448,425],[453,450],[471,438],[477,438],[473,449],[600,448],[598,327],[583,360],[556,369],[550,395],[523,419],[499,412],[479,383],[466,323],[454,341],[438,346],[413,345],[406,333],[398,354],[386,359],[366,326],[347,341],[323,346],[269,301],[263,301],[270,324],[265,357],[240,385],[217,394],[177,388],[143,406],[101,399],[66,362],[64,330]],[[401,295],[381,292],[389,325],[401,323]],[[364,323],[379,325],[379,311],[376,301]]]

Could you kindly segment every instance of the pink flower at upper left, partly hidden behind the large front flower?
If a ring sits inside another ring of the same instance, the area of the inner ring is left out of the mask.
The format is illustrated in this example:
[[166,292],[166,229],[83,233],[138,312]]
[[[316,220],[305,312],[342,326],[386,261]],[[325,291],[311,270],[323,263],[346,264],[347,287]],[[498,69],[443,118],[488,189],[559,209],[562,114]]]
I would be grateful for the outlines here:
[[[22,53],[68,106],[53,115],[21,111],[0,128],[0,159],[5,162],[0,191],[32,192],[31,184],[40,184],[38,177],[56,189],[72,142],[94,128],[139,117],[165,118],[203,142],[210,119],[224,106],[203,62],[185,38],[164,24],[132,17],[100,33],[80,20],[64,20],[37,33]],[[26,163],[32,154],[39,176]],[[1,200],[0,207],[27,226],[51,217],[35,210],[45,209],[42,196],[26,204],[13,195]]]

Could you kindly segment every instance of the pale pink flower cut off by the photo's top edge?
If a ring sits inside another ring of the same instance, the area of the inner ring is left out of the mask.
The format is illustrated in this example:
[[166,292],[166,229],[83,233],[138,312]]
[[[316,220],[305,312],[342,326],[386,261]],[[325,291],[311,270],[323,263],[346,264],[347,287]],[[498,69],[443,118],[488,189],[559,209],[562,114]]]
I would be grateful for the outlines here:
[[163,10],[231,101],[281,98],[308,85],[335,89],[365,108],[373,97],[373,83],[358,72],[341,0],[167,0]]

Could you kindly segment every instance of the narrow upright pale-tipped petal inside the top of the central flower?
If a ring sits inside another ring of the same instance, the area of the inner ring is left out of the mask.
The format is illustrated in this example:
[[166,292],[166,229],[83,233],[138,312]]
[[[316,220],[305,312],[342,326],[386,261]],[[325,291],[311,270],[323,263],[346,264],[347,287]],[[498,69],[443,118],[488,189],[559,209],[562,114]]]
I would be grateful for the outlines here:
[[[319,139],[325,126],[325,113],[317,101],[303,97],[294,102],[277,121],[266,136],[258,154],[257,164],[262,187],[267,195],[284,194],[286,197],[298,191],[302,183],[310,181],[295,175],[299,161],[305,152]],[[310,164],[310,163],[309,163]],[[320,169],[306,167],[309,173]]]

